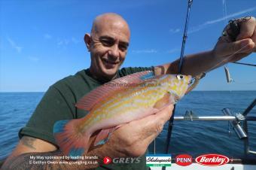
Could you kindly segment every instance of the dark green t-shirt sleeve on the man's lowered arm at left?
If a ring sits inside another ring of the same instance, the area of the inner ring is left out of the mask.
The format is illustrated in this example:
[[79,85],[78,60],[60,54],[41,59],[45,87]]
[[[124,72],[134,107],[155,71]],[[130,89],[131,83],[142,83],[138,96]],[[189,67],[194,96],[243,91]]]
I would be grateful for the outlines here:
[[19,137],[29,135],[56,145],[53,138],[53,125],[58,120],[73,119],[74,108],[56,87],[51,86],[35,108],[29,122],[20,129]]

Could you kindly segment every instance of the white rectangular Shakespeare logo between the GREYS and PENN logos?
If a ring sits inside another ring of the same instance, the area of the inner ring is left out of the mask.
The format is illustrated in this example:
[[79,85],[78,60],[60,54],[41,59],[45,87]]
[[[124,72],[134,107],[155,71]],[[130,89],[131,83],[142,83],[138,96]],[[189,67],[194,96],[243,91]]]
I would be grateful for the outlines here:
[[171,154],[148,154],[146,155],[147,166],[171,166]]

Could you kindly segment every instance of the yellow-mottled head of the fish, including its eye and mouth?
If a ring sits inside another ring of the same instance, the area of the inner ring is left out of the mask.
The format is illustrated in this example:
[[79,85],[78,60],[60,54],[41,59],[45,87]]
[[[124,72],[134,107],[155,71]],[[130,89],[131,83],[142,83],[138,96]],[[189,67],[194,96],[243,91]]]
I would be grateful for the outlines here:
[[171,97],[174,98],[175,102],[178,102],[187,92],[192,77],[183,74],[169,74],[168,79],[168,92],[171,94]]

